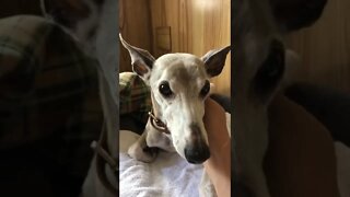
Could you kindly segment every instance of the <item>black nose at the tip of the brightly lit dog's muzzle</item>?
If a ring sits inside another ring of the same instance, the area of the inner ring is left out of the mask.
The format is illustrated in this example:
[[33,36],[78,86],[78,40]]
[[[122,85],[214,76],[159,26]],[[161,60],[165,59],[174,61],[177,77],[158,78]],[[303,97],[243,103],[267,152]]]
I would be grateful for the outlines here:
[[203,146],[187,146],[185,148],[185,158],[189,163],[200,164],[208,160],[210,151],[207,144]]

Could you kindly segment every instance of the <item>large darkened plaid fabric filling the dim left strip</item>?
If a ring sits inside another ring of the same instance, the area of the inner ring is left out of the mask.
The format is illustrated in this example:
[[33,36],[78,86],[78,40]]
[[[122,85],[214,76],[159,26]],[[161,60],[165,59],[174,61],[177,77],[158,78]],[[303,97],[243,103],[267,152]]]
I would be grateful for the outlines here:
[[96,66],[43,18],[0,20],[0,185],[78,196],[103,123]]

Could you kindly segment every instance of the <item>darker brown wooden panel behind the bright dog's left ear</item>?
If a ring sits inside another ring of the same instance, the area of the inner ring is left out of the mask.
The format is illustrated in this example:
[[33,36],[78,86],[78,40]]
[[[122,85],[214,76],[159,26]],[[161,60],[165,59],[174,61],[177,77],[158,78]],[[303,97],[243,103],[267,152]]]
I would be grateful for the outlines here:
[[[119,32],[133,46],[152,54],[152,25],[149,1],[119,0]],[[120,72],[131,71],[131,59],[120,45]]]

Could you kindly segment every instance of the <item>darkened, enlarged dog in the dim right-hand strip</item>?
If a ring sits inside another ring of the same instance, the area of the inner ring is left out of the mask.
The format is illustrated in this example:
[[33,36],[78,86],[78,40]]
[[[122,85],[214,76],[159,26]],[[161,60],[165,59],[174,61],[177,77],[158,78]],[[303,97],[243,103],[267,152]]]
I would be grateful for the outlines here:
[[233,177],[235,185],[244,185],[250,195],[269,197],[264,172],[269,141],[267,107],[295,61],[282,38],[316,21],[325,0],[234,0],[231,5]]

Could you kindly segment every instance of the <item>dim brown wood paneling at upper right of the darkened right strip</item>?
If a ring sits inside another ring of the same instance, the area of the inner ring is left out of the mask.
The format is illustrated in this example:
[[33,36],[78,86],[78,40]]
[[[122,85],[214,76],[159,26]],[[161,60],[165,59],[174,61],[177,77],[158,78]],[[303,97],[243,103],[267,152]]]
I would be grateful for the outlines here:
[[293,33],[288,45],[302,58],[296,80],[350,92],[350,1],[328,0],[314,26]]

